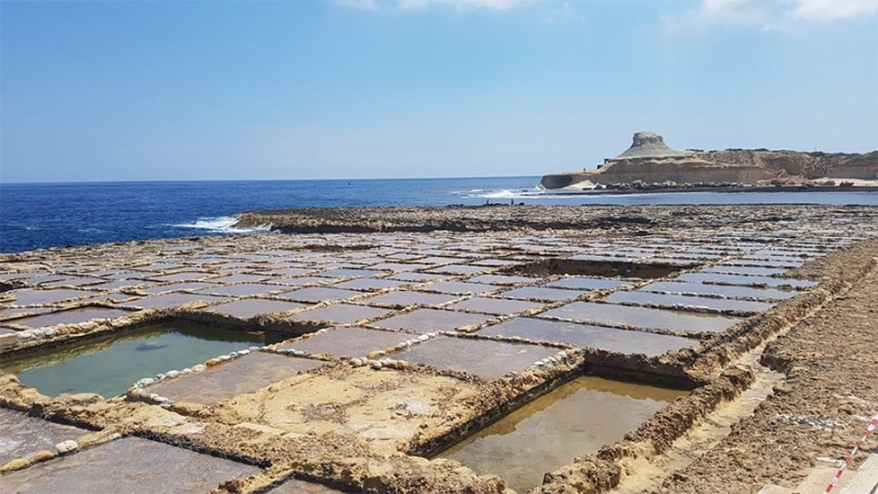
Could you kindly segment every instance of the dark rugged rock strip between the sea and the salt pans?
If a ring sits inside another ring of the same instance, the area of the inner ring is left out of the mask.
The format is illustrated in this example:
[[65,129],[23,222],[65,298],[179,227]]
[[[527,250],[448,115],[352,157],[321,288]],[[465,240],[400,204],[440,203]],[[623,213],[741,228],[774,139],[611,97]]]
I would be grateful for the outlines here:
[[724,227],[819,220],[828,212],[874,221],[873,206],[819,205],[450,205],[442,207],[312,207],[241,213],[236,227],[271,225],[282,233],[521,232]]

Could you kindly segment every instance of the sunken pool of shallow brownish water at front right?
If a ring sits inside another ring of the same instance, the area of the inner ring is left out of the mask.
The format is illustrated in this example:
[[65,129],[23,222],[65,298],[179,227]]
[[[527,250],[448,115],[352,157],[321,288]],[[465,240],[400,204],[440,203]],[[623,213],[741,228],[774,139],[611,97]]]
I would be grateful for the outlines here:
[[437,454],[479,474],[500,475],[526,492],[543,475],[621,440],[668,402],[688,392],[578,378]]

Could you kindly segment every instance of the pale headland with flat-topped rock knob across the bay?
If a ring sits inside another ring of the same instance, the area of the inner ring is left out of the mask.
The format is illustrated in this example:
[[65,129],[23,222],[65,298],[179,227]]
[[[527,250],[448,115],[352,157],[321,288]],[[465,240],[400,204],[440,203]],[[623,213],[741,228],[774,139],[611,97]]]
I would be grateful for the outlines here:
[[768,149],[684,151],[665,145],[658,134],[638,132],[630,148],[608,158],[597,170],[547,175],[541,184],[545,189],[575,191],[620,183],[675,188],[695,183],[756,186],[811,180],[829,186],[878,180],[878,151],[863,155]]

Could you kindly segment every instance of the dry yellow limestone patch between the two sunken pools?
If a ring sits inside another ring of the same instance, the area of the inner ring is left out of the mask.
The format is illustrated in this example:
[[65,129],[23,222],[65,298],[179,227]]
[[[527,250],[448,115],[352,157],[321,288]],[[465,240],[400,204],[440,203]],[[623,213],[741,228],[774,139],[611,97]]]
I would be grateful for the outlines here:
[[481,394],[474,383],[454,378],[336,368],[236,396],[216,412],[291,437],[347,433],[373,447],[405,451],[465,424]]

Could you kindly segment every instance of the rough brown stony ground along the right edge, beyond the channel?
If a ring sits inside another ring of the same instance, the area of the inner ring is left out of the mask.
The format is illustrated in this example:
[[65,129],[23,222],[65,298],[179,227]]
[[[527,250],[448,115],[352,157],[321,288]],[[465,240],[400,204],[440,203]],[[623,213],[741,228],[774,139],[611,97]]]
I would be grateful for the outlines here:
[[[825,269],[844,271],[876,256],[878,245],[871,244],[833,259]],[[844,459],[878,412],[876,301],[878,271],[873,270],[847,294],[769,344],[762,362],[785,373],[786,384],[662,492],[741,493],[769,483],[795,489],[820,464],[817,458]],[[876,446],[871,439],[866,454]]]

